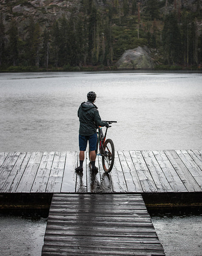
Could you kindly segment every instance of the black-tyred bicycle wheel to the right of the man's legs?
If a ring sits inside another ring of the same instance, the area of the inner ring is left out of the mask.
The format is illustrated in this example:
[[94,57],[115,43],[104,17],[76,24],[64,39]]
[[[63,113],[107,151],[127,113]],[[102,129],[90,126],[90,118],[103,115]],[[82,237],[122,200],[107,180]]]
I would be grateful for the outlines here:
[[114,165],[114,143],[111,139],[107,139],[104,144],[104,155],[102,156],[102,166],[106,173],[111,172]]

